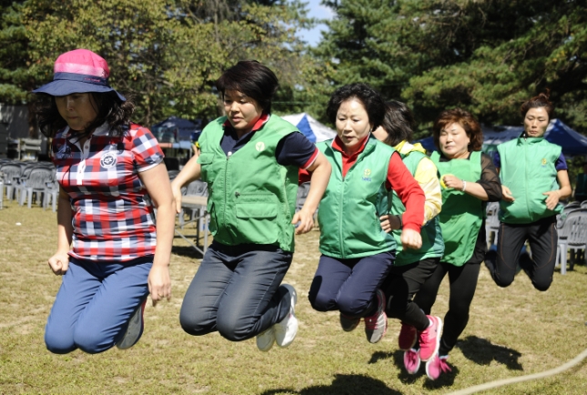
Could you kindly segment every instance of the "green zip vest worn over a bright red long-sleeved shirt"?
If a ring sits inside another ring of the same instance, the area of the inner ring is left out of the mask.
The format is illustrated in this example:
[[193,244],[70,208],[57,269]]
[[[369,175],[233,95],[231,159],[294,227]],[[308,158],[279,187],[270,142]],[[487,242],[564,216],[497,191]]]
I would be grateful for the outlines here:
[[332,175],[320,201],[320,252],[333,258],[362,258],[395,249],[395,239],[381,228],[380,216],[390,212],[385,187],[392,147],[369,137],[363,151],[342,177],[342,154],[332,141],[319,143]]

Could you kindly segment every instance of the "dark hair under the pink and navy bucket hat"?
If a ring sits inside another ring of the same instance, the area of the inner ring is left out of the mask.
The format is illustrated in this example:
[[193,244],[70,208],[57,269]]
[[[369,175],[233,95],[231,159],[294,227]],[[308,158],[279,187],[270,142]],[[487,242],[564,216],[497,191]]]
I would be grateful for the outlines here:
[[[114,130],[114,136],[121,137],[127,131],[130,125],[130,116],[135,112],[135,105],[127,96],[126,101],[122,101],[116,94],[116,91],[110,92],[87,92],[91,95],[96,103],[96,119],[92,121],[86,130],[83,130],[79,137],[89,135],[96,127],[100,127],[107,122],[108,126]],[[59,114],[55,96],[39,94],[38,96],[48,96],[49,101],[40,104],[35,113],[38,119],[39,129],[46,137],[55,137],[59,130],[67,126],[66,120]]]

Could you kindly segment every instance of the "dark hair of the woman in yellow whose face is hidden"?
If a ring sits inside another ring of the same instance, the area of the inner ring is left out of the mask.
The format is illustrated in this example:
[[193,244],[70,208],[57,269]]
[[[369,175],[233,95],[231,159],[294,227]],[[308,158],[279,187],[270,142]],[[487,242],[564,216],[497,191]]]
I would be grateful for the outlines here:
[[383,141],[391,147],[395,147],[402,141],[411,141],[416,120],[410,108],[397,100],[385,103],[385,116],[381,127],[388,132],[388,137]]

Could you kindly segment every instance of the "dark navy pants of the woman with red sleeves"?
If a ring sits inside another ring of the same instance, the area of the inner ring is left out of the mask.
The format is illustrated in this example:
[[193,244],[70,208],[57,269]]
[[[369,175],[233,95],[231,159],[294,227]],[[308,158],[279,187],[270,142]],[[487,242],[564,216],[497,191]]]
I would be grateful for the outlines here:
[[309,302],[318,311],[339,310],[350,318],[368,317],[377,309],[375,292],[390,272],[395,255],[382,252],[364,258],[322,255],[309,288]]

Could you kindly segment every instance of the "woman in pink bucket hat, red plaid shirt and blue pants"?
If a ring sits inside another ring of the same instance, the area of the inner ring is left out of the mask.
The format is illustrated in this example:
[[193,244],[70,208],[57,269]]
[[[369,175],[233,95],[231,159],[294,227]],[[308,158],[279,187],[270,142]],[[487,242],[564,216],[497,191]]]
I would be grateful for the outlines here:
[[37,116],[53,137],[60,189],[57,250],[48,264],[63,278],[46,347],[57,354],[128,349],[143,333],[149,292],[154,305],[171,292],[175,206],[163,152],[147,128],[130,122],[135,106],[108,85],[102,57],[66,52],[54,72],[33,91],[49,96]]

